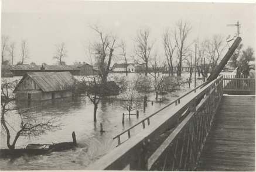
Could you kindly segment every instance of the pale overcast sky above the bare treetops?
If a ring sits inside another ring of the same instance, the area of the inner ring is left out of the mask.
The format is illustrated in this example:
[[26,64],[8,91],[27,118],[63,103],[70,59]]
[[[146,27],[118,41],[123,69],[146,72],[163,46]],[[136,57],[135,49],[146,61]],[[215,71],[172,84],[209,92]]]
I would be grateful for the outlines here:
[[[15,63],[20,61],[21,40],[29,44],[27,63],[53,64],[55,45],[64,42],[67,47],[67,64],[86,61],[85,47],[97,38],[90,26],[98,24],[128,45],[132,54],[136,32],[150,28],[155,50],[161,55],[162,33],[166,27],[172,29],[179,19],[191,23],[189,41],[203,40],[214,34],[227,37],[234,35],[241,25],[242,43],[255,47],[255,5],[246,3],[186,3],[186,2],[100,2],[100,1],[2,1],[2,34],[16,42]],[[115,50],[115,54],[119,54]],[[115,61],[118,61],[115,58]]]

